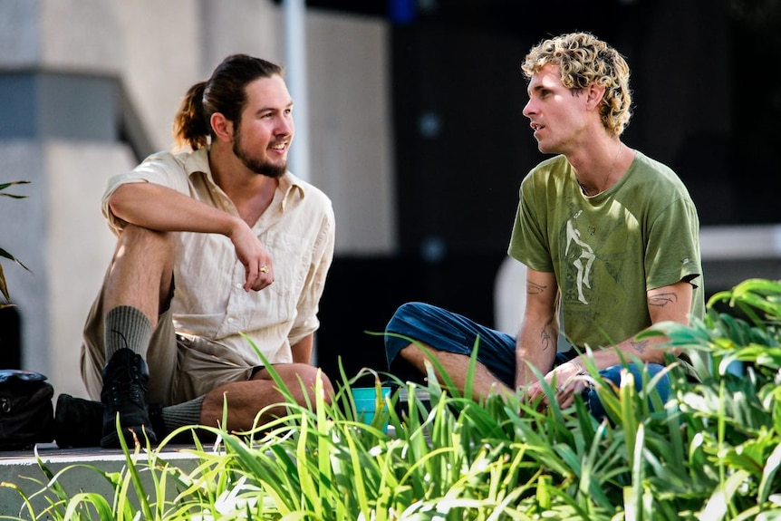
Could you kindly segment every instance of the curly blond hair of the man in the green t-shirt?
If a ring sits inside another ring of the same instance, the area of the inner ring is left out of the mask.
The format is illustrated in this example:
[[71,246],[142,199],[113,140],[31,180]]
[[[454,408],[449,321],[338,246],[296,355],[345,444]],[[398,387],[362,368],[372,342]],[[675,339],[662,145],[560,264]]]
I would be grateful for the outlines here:
[[621,136],[632,117],[629,65],[623,56],[593,34],[570,33],[543,40],[526,54],[521,68],[530,79],[546,64],[558,65],[567,89],[596,83],[604,87],[599,111],[605,129]]

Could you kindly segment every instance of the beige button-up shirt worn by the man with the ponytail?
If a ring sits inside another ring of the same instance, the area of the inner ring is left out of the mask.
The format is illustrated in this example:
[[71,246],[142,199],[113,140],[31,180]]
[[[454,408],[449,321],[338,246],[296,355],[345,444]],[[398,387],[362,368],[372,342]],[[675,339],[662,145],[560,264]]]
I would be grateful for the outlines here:
[[[151,182],[238,216],[212,178],[207,150],[149,156],[112,177],[102,199],[114,233],[126,224],[111,214],[109,198],[125,183]],[[195,334],[236,350],[248,365],[262,365],[245,333],[271,363],[292,362],[291,345],[313,333],[318,304],[333,260],[331,200],[290,172],[279,179],[271,205],[252,228],[274,259],[274,284],[246,292],[245,268],[226,236],[179,232],[171,309],[178,333]]]

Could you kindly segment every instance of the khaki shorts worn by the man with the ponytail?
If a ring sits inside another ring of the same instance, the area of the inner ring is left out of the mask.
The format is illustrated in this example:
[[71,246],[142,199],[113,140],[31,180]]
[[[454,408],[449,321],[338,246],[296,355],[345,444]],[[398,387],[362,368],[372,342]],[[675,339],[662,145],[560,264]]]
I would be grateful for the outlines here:
[[[92,400],[101,400],[103,347],[103,292],[92,304],[84,325],[82,381]],[[176,333],[170,307],[159,315],[147,352],[147,401],[173,405],[203,396],[232,381],[246,381],[253,368],[227,346],[207,338]]]

